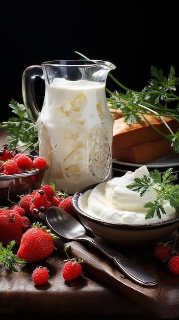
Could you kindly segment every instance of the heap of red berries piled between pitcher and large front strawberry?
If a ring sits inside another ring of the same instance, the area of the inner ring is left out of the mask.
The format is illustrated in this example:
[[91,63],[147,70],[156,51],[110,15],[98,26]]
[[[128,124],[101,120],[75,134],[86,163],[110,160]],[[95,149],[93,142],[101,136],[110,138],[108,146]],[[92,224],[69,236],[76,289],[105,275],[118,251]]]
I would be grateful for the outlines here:
[[[22,233],[31,225],[31,220],[45,214],[50,207],[63,207],[69,214],[75,216],[71,203],[72,196],[64,192],[56,192],[50,185],[21,196],[19,202],[11,208],[0,209],[0,242],[8,244],[15,240],[20,243]],[[77,216],[77,214],[76,214]]]

